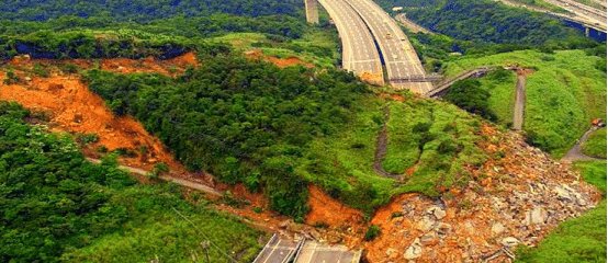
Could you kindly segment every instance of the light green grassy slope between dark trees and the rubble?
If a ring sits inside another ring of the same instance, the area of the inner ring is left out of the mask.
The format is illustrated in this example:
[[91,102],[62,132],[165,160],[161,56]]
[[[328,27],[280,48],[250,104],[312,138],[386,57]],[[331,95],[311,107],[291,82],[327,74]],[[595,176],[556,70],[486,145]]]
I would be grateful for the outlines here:
[[[438,196],[440,187],[466,182],[464,164],[475,165],[486,158],[475,146],[481,140],[481,121],[448,103],[398,95],[405,101],[369,95],[358,104],[348,129],[309,144],[299,174],[368,213],[396,194]],[[403,181],[382,176],[373,169],[384,122],[387,145],[381,165],[386,172],[403,175]]]

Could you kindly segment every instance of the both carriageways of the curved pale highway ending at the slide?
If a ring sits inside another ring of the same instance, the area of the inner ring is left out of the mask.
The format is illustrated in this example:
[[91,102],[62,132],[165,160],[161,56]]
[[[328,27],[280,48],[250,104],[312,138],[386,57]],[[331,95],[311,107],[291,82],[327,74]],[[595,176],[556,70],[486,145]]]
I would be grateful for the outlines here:
[[[376,76],[382,72],[380,62],[383,62],[387,81],[395,89],[409,89],[418,94],[432,90],[416,50],[396,21],[382,8],[371,0],[318,1],[342,37],[345,69],[356,71],[358,76],[364,75],[362,70]],[[369,65],[370,61],[373,66]],[[378,65],[380,70],[375,70]],[[380,76],[384,80],[383,73]]]

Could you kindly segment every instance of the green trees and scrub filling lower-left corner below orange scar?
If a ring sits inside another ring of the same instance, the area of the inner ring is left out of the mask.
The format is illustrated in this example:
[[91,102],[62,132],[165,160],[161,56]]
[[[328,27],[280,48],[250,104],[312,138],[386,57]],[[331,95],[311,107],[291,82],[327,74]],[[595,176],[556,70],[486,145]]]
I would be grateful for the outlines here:
[[[263,233],[171,184],[139,184],[112,158],[90,163],[67,135],[0,102],[0,261],[178,262],[204,251],[250,262]],[[194,222],[189,225],[173,209]],[[221,250],[221,251],[219,251]]]

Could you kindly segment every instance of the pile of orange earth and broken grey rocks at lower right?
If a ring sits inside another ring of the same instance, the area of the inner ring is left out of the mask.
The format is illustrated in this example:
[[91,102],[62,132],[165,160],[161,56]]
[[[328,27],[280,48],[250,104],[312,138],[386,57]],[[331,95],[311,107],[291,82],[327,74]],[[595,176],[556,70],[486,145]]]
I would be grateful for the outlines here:
[[[556,225],[599,201],[595,187],[515,133],[484,127],[491,157],[473,179],[431,199],[402,195],[372,219],[382,235],[365,245],[370,262],[510,262]],[[493,142],[494,141],[494,142]]]

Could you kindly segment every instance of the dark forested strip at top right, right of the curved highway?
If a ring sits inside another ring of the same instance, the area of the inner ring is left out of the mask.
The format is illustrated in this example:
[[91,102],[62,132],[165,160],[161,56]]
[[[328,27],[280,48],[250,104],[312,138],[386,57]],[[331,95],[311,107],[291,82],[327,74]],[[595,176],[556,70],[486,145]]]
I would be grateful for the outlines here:
[[[383,0],[385,7],[404,5],[407,16],[425,27],[457,39],[576,48],[592,45],[581,32],[543,13],[510,8],[491,0],[444,0],[428,3]],[[421,5],[421,8],[419,7]]]

